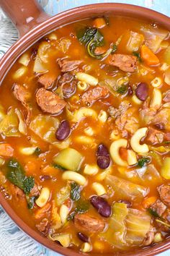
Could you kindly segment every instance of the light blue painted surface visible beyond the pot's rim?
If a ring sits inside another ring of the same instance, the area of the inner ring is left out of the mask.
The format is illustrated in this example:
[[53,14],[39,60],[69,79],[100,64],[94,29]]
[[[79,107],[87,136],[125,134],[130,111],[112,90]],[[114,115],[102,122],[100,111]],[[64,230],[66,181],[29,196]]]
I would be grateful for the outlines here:
[[[41,2],[41,1],[40,1]],[[135,4],[141,7],[147,7],[153,9],[157,12],[161,12],[170,17],[170,0],[122,0],[122,1],[113,1],[113,0],[49,0],[44,1],[48,2],[45,6],[45,11],[49,14],[57,14],[58,12],[63,12],[66,9],[71,9],[73,7],[79,7],[84,4],[94,4],[94,3],[123,3],[123,4]],[[43,3],[43,0],[42,0]],[[42,248],[40,248],[42,249]],[[49,249],[45,249],[45,255],[47,256],[58,256],[58,253],[51,252]],[[161,253],[159,256],[169,256],[170,249],[166,252]]]

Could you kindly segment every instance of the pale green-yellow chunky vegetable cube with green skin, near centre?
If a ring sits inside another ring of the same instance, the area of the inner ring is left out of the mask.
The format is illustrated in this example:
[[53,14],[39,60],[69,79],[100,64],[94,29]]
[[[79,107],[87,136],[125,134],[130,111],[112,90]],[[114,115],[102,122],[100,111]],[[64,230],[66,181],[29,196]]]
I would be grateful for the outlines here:
[[79,171],[83,156],[73,148],[65,148],[55,155],[53,162],[70,171]]

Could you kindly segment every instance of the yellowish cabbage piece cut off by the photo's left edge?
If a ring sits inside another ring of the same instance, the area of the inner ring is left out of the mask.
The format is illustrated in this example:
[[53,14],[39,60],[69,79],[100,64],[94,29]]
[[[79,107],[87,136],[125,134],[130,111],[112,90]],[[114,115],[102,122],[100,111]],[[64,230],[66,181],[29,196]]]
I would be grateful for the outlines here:
[[0,123],[0,133],[6,137],[20,137],[19,132],[19,119],[14,111],[14,108],[10,108],[9,112]]

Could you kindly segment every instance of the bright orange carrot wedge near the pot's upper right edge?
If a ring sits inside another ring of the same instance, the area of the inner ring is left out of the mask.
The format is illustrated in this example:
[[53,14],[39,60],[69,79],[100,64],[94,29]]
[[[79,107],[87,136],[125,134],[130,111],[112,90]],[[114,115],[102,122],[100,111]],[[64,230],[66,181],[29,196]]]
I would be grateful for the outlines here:
[[143,61],[146,62],[148,66],[159,64],[159,59],[156,54],[153,54],[150,48],[146,45],[143,45],[140,50],[140,55]]

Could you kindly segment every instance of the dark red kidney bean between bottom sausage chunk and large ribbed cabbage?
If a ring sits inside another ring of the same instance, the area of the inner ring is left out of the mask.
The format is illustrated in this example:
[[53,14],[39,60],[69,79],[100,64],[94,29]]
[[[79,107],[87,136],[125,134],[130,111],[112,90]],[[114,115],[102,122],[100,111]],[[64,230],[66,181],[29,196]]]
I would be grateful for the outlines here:
[[109,218],[112,210],[108,202],[104,200],[103,197],[98,197],[97,195],[94,195],[93,197],[90,197],[90,202],[91,202],[91,205],[93,205],[94,208],[97,209],[98,213],[101,216],[105,218]]

